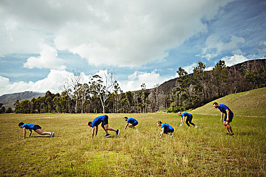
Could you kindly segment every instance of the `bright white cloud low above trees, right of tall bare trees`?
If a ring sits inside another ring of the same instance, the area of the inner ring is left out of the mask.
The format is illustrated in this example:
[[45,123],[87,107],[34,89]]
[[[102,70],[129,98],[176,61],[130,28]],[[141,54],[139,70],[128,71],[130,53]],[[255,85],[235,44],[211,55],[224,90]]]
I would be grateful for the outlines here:
[[128,75],[128,80],[119,81],[119,85],[124,92],[141,90],[141,84],[145,83],[146,89],[152,89],[156,84],[162,84],[169,78],[161,77],[156,71],[140,72],[135,71]]

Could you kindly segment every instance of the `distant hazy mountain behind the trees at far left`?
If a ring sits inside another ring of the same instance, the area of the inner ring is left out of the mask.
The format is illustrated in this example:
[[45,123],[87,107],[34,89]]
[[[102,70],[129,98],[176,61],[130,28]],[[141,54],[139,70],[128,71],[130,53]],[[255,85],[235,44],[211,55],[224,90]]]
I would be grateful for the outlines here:
[[5,94],[0,97],[0,103],[3,103],[3,106],[7,109],[8,107],[11,107],[12,109],[15,109],[14,103],[19,100],[31,100],[32,98],[38,98],[38,97],[44,97],[45,93],[40,92],[21,92],[21,93],[15,93],[15,94]]

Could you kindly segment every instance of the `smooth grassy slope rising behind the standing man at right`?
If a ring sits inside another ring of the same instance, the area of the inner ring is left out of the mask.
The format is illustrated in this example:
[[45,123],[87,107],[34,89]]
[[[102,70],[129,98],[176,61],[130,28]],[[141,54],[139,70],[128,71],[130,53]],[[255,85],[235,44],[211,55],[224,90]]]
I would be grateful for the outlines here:
[[227,95],[190,112],[193,114],[220,115],[220,111],[212,106],[214,102],[225,104],[235,115],[266,117],[266,87]]

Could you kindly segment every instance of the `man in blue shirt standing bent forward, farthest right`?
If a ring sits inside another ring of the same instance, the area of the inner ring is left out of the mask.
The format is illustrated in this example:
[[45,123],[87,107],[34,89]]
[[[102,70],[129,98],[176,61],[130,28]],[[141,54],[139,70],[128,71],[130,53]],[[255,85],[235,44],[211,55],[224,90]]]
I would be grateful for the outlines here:
[[217,102],[214,102],[212,104],[212,106],[214,108],[218,108],[221,111],[221,120],[220,121],[222,121],[222,116],[223,116],[223,114],[225,114],[223,124],[224,124],[226,131],[227,131],[226,135],[233,136],[234,135],[233,130],[232,130],[232,127],[229,123],[232,122],[233,117],[234,117],[234,113],[229,109],[228,106],[223,105],[223,104],[218,104]]

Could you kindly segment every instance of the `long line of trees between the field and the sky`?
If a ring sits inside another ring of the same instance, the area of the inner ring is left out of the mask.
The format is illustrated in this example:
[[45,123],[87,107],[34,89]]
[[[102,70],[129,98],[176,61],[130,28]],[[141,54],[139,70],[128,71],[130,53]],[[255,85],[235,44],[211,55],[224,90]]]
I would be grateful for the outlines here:
[[[90,80],[80,71],[73,72],[62,83],[61,94],[46,92],[44,97],[18,100],[16,113],[147,113],[178,112],[194,109],[217,98],[264,87],[265,59],[248,61],[245,65],[226,67],[220,60],[210,71],[199,61],[192,74],[179,67],[179,77],[170,92],[162,85],[138,92],[124,93],[113,72],[94,75]],[[2,106],[2,105],[1,105]],[[12,109],[11,109],[12,111]],[[4,113],[4,112],[2,112]]]

